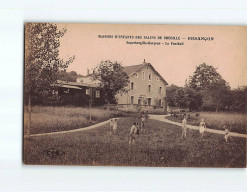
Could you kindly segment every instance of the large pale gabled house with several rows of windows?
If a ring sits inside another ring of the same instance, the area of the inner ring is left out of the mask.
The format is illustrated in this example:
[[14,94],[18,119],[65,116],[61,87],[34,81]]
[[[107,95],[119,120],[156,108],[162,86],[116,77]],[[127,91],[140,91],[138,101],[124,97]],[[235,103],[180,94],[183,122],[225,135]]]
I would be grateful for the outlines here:
[[138,104],[163,106],[168,83],[145,60],[140,65],[125,66],[124,71],[129,76],[128,92],[116,95],[118,104]]

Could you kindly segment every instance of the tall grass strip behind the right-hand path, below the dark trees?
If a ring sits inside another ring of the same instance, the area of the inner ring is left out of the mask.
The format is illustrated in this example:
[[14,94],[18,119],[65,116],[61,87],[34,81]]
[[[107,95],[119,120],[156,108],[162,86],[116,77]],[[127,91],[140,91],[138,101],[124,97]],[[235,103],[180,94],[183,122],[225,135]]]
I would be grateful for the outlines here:
[[[247,133],[247,115],[239,113],[214,113],[214,112],[201,112],[199,116],[196,113],[190,113],[187,123],[190,125],[199,126],[200,120],[204,118],[206,126],[212,129],[224,130],[223,126],[227,125],[229,130],[236,133]],[[175,122],[182,122],[179,117],[168,116]]]

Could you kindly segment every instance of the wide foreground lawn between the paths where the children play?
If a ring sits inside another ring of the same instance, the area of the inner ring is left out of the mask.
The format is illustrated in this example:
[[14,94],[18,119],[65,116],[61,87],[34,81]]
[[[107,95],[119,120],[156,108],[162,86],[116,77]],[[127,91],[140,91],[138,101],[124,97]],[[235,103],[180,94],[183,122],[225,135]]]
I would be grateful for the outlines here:
[[[171,124],[147,120],[146,133],[128,147],[128,134],[137,118],[121,118],[117,134],[110,138],[109,127],[60,135],[25,138],[24,162],[55,165],[165,166],[165,167],[245,167],[246,139],[181,129]],[[46,150],[55,148],[62,155],[50,157]],[[64,153],[63,153],[64,152]]]

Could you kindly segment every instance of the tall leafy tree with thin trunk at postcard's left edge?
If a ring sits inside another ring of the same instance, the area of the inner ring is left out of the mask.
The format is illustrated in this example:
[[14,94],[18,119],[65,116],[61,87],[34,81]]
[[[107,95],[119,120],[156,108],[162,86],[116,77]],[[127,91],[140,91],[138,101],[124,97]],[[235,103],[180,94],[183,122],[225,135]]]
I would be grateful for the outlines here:
[[56,24],[27,23],[25,25],[25,103],[28,104],[31,128],[32,99],[47,98],[56,87],[58,71],[65,70],[74,57],[68,61],[59,58],[59,39],[66,29],[59,30]]

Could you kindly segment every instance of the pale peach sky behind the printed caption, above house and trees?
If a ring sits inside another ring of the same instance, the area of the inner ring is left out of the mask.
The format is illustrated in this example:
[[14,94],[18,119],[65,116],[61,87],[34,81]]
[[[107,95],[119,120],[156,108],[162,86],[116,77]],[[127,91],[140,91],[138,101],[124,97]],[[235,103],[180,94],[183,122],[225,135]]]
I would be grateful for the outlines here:
[[[231,88],[247,85],[246,27],[143,24],[58,24],[58,27],[67,29],[60,40],[60,58],[66,60],[75,55],[67,71],[86,75],[87,69],[92,70],[104,60],[130,66],[141,64],[145,59],[169,85],[184,86],[196,66],[206,63],[217,68]],[[113,38],[98,38],[99,35]],[[134,38],[115,38],[115,35]],[[144,39],[144,36],[156,39]],[[162,39],[158,40],[158,36]],[[164,36],[180,37],[180,40],[165,40]],[[188,40],[188,37],[213,37],[213,40]],[[136,45],[126,44],[126,41],[161,44]],[[171,45],[171,42],[184,45]]]

